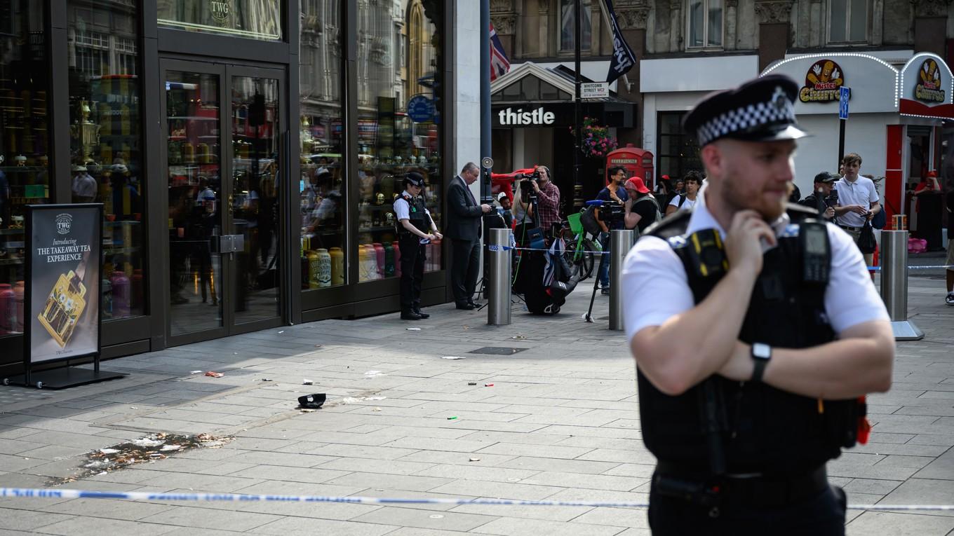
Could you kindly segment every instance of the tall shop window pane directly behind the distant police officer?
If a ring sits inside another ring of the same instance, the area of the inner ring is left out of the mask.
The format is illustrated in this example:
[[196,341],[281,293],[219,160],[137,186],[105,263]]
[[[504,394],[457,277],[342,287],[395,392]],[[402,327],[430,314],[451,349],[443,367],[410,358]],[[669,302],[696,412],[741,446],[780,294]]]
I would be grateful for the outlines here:
[[[396,276],[397,225],[393,202],[404,190],[403,177],[425,177],[430,215],[443,229],[441,214],[441,114],[444,106],[440,26],[443,12],[435,4],[411,0],[401,4],[358,7],[358,236],[349,244],[359,260],[359,281]],[[395,35],[404,32],[406,69],[395,55]],[[404,95],[401,98],[399,95]],[[407,103],[415,103],[413,116]],[[429,244],[425,271],[442,268],[440,243]]]

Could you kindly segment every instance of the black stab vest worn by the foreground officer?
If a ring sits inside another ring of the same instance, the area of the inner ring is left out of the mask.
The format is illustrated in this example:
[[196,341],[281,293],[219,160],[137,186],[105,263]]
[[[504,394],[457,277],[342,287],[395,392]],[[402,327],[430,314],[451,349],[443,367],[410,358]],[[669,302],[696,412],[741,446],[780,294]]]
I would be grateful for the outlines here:
[[[824,311],[825,287],[805,283],[801,277],[798,222],[817,215],[796,205],[789,205],[787,212],[792,225],[778,238],[778,247],[764,255],[738,339],[807,348],[835,340],[835,333]],[[674,247],[698,303],[718,278],[698,276],[687,264],[686,240],[679,237],[685,237],[690,216],[676,213],[647,234],[667,239]],[[656,389],[638,367],[636,376],[647,448],[659,460],[685,467],[687,472],[711,473],[701,384],[669,396]],[[730,381],[717,375],[711,380],[716,385],[717,435],[727,473],[802,474],[838,458],[841,447],[856,442],[863,417],[863,405],[856,400],[819,402],[766,383]]]

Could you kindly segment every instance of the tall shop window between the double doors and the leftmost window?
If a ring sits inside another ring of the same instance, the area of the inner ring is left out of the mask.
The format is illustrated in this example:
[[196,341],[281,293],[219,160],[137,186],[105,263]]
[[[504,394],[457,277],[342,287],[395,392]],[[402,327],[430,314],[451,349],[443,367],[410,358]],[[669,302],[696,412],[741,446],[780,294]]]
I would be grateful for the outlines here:
[[132,3],[67,3],[73,202],[103,203],[103,320],[146,313],[142,173]]

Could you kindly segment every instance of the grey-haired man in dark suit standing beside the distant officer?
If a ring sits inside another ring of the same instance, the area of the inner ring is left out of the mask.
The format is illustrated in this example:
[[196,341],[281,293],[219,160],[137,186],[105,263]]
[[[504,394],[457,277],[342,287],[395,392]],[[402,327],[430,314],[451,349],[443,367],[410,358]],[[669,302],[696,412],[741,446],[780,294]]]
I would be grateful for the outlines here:
[[446,237],[450,238],[453,258],[450,266],[450,286],[458,309],[472,310],[480,269],[481,216],[490,212],[490,205],[478,204],[468,186],[480,176],[477,164],[467,162],[461,175],[450,179],[447,187]]

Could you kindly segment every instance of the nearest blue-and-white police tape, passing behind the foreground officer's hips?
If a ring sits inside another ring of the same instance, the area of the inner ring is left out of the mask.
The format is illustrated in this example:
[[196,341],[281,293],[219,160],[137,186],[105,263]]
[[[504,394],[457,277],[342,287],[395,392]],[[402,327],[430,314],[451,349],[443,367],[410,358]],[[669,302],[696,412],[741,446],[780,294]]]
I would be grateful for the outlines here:
[[[82,489],[31,489],[0,487],[0,497],[15,499],[122,499],[155,502],[224,503],[351,503],[360,505],[505,505],[505,506],[603,506],[645,508],[632,501],[516,501],[509,499],[443,499],[388,497],[331,497],[324,495],[253,495],[243,493],[153,493],[149,491],[87,491]],[[848,505],[852,510],[954,511],[954,505]]]

